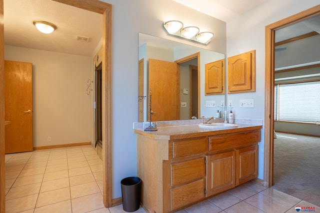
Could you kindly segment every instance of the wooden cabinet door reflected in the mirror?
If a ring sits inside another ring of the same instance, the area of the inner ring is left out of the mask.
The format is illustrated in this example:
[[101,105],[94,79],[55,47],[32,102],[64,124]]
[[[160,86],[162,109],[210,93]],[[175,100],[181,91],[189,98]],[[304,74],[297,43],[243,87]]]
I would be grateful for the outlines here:
[[205,64],[205,95],[224,94],[224,59]]

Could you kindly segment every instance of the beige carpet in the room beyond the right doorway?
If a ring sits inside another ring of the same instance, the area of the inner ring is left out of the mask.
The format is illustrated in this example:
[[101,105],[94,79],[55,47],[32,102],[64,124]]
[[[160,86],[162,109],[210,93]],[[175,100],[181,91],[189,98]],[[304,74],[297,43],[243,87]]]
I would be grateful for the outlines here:
[[320,206],[320,138],[276,135],[272,188]]

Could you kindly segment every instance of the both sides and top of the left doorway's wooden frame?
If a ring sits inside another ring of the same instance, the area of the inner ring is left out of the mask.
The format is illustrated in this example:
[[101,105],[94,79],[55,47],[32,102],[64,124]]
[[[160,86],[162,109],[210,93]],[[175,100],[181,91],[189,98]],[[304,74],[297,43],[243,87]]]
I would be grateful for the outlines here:
[[[103,204],[117,205],[112,201],[111,180],[111,4],[99,0],[55,0],[78,8],[102,14],[102,176]],[[0,0],[0,109],[4,109],[3,64],[4,27],[3,0]],[[4,183],[4,111],[0,110],[0,213],[5,213]]]

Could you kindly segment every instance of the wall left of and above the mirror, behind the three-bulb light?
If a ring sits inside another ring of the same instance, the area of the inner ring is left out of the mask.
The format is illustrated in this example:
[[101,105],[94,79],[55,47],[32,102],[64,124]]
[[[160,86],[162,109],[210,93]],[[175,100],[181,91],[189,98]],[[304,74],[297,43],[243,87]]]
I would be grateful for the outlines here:
[[[132,123],[137,121],[138,32],[225,53],[225,22],[172,0],[103,0],[112,4],[111,140],[112,198],[121,197],[120,181],[136,175],[136,142]],[[212,31],[208,45],[168,35],[163,21],[180,20]]]

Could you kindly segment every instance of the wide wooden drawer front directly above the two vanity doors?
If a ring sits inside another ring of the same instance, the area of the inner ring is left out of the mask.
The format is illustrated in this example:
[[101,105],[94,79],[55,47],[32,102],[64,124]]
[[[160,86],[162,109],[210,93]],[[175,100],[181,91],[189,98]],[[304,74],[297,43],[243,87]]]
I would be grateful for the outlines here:
[[209,137],[209,151],[236,149],[254,145],[261,140],[260,130]]

